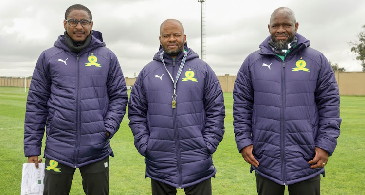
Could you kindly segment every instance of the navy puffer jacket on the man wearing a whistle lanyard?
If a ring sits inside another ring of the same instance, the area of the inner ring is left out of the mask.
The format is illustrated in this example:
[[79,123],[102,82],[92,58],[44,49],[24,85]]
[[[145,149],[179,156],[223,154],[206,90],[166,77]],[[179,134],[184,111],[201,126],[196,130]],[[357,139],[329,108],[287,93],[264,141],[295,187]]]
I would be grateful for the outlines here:
[[[217,76],[191,49],[176,85],[159,54],[138,75],[128,103],[135,146],[145,156],[146,177],[186,188],[214,177],[212,154],[223,139],[225,110]],[[163,55],[175,79],[184,53]]]

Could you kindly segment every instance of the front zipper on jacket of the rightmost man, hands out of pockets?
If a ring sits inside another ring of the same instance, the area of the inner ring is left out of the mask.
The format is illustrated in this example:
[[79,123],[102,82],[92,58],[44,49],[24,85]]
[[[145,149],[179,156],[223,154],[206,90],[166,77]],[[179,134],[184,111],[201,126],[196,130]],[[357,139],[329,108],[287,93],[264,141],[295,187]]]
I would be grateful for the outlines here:
[[283,174],[283,185],[286,180],[285,170],[285,60],[283,60],[283,76],[281,77],[281,172]]

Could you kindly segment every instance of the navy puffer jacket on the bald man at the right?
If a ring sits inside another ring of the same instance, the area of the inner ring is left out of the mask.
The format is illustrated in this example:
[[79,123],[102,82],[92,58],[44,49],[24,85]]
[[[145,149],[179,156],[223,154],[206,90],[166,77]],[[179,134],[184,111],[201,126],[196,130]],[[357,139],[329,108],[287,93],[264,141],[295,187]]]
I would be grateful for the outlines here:
[[340,134],[340,96],[325,56],[296,33],[297,46],[281,60],[269,48],[243,62],[233,91],[238,150],[253,144],[259,175],[291,185],[324,174],[308,162],[315,147],[332,155]]

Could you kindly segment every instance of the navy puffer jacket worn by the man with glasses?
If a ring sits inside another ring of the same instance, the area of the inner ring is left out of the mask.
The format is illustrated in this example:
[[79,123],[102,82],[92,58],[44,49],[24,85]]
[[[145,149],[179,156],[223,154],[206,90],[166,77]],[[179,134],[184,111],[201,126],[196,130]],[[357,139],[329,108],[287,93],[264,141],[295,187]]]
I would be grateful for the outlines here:
[[110,138],[119,129],[127,102],[121,67],[104,42],[92,35],[87,48],[72,53],[65,36],[59,36],[54,47],[40,55],[33,73],[25,114],[25,156],[40,155],[44,126],[46,158],[82,167],[113,156]]

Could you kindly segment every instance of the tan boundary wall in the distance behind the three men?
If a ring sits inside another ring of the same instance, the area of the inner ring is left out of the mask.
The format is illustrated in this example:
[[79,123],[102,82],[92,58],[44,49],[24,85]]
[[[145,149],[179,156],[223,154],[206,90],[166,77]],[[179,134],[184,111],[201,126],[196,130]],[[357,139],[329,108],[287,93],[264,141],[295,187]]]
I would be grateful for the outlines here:
[[[223,92],[232,92],[236,76],[226,74],[217,76]],[[365,72],[335,71],[335,77],[340,90],[340,95],[365,95]],[[125,77],[126,85],[133,86],[136,77]],[[26,79],[26,87],[29,87],[32,79]],[[0,86],[24,86],[24,78],[0,78]]]

